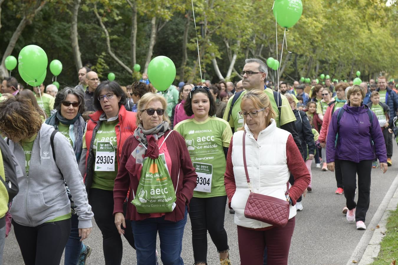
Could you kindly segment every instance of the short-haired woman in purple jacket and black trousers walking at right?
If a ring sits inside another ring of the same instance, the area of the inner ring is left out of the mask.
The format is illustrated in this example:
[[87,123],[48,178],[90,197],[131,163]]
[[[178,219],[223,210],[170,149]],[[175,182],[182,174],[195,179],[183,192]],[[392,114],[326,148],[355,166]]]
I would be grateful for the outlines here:
[[[347,221],[356,221],[358,230],[366,229],[365,217],[369,209],[371,170],[375,153],[383,173],[387,170],[384,137],[375,113],[363,104],[364,97],[365,92],[359,85],[348,90],[348,103],[333,113],[326,139],[328,169],[334,171],[334,161],[340,162],[348,207]],[[355,203],[357,174],[359,193]]]

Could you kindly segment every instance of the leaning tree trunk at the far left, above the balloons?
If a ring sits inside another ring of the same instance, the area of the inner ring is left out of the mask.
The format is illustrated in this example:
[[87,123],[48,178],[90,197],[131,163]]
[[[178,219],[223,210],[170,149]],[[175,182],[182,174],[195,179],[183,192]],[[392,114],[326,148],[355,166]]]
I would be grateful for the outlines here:
[[17,29],[12,34],[12,37],[11,37],[10,41],[8,42],[7,48],[4,51],[3,58],[1,60],[1,65],[0,65],[0,77],[4,77],[6,75],[8,76],[8,74],[7,74],[8,72],[7,72],[6,66],[4,65],[4,61],[6,60],[6,58],[8,56],[11,55],[12,51],[14,50],[15,44],[17,43],[23,29],[25,29],[27,24],[31,23],[31,20],[35,17],[35,15],[37,13],[40,12],[40,10],[44,7],[44,5],[46,3],[47,3],[46,1],[41,2],[40,5],[35,9],[35,11],[33,11],[33,13],[25,15],[22,18],[22,20],[20,21],[20,24],[18,25]]

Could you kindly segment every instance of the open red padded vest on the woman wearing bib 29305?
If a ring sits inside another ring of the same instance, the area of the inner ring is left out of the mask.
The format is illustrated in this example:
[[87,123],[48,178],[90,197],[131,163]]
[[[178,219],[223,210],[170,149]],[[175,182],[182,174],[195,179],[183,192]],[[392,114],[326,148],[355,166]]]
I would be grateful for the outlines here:
[[[103,110],[97,110],[93,114],[89,115],[90,120],[87,123],[86,130],[86,175],[84,176],[84,184],[86,185],[86,190],[91,188],[92,176],[93,176],[93,163],[95,157],[92,152],[92,141],[95,139],[95,134],[101,126],[100,116],[103,114]],[[137,113],[127,111],[126,108],[121,105],[119,110],[119,123],[115,126],[116,131],[116,141],[117,141],[117,163],[120,163],[120,158],[122,154],[123,145],[126,139],[134,134],[137,121]]]

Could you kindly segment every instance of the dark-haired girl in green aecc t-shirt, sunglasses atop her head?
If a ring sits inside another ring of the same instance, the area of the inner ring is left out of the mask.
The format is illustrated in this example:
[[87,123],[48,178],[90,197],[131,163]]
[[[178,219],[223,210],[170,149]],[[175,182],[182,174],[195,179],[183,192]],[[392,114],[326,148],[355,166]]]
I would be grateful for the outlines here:
[[228,122],[214,117],[216,104],[208,87],[194,87],[187,97],[184,110],[193,118],[178,123],[174,130],[184,137],[198,175],[189,203],[195,264],[207,264],[209,231],[220,253],[220,263],[230,265],[228,238],[224,229],[224,173],[232,131]]

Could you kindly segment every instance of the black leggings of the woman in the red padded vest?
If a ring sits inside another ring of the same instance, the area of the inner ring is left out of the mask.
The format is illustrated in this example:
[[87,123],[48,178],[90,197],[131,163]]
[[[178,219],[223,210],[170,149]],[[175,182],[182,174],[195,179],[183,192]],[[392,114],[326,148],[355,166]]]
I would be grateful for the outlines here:
[[[123,243],[119,232],[117,232],[115,217],[113,216],[113,191],[92,188],[89,191],[88,201],[92,207],[96,224],[102,233],[102,248],[105,264],[121,264]],[[127,203],[125,203],[123,207],[124,214],[126,214],[126,205]],[[135,248],[133,230],[129,220],[126,220],[126,228],[122,226],[122,229],[125,230],[124,237],[127,239],[130,246]]]

